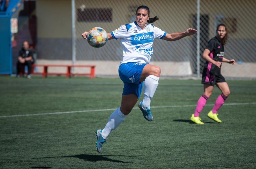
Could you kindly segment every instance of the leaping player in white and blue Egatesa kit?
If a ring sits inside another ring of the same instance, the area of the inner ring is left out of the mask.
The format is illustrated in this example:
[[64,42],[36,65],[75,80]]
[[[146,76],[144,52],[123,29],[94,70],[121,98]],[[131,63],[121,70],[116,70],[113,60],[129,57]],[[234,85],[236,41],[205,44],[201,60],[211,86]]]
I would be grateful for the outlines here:
[[[112,130],[119,126],[138,101],[144,84],[144,97],[138,107],[148,121],[153,121],[150,102],[156,91],[161,69],[149,64],[153,54],[153,40],[163,39],[176,41],[185,36],[193,35],[197,30],[189,28],[180,33],[166,33],[155,27],[153,23],[158,17],[150,18],[147,6],[139,6],[136,10],[136,21],[122,25],[108,33],[108,40],[119,39],[123,47],[123,60],[119,66],[119,76],[124,83],[121,106],[109,118],[103,130],[96,131],[97,151],[101,152],[102,144]],[[88,32],[82,33],[86,39]]]

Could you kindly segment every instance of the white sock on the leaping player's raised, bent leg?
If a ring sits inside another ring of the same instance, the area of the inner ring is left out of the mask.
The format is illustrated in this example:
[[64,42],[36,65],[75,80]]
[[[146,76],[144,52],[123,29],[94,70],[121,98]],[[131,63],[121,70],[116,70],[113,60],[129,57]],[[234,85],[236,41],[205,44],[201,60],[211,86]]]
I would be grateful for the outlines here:
[[146,77],[144,81],[144,97],[142,101],[142,107],[146,109],[146,107],[150,108],[151,98],[154,96],[156,88],[158,86],[159,77],[154,75],[149,75]]

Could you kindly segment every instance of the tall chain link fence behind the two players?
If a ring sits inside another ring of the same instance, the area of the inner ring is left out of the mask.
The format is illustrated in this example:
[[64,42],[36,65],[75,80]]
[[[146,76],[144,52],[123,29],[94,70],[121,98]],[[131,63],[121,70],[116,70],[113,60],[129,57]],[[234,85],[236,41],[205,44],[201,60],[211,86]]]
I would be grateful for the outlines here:
[[[205,63],[202,59],[205,46],[210,38],[216,35],[216,26],[224,23],[229,32],[224,57],[235,59],[247,68],[245,63],[250,63],[252,69],[255,70],[255,0],[75,0],[76,60],[120,61],[123,58],[120,40],[111,40],[101,48],[93,48],[81,37],[81,33],[93,27],[102,27],[107,32],[111,32],[123,24],[134,22],[136,9],[140,5],[150,8],[151,17],[156,15],[159,17],[159,20],[153,24],[167,33],[182,32],[187,28],[197,29],[198,12],[200,16],[198,34],[175,42],[154,41],[154,54],[151,58],[154,63],[189,62],[192,74],[197,74],[198,69],[201,73]],[[197,36],[200,39],[199,44]],[[199,67],[197,64],[198,49]],[[107,66],[105,68],[107,69]],[[234,73],[233,69],[227,71],[230,75]]]

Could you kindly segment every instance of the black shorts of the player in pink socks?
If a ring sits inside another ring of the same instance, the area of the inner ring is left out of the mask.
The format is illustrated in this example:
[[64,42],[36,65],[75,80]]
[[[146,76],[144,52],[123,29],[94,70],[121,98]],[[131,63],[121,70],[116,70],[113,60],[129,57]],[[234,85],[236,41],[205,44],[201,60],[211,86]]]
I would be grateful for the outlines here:
[[226,82],[226,80],[221,74],[214,75],[210,71],[207,71],[207,69],[203,70],[202,84],[209,84],[209,85],[214,86],[218,82]]

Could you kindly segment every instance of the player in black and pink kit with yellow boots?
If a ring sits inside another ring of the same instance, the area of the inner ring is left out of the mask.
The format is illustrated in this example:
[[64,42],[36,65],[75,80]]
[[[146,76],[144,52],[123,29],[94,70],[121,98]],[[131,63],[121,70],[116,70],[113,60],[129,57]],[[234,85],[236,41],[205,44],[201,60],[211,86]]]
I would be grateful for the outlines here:
[[205,106],[206,101],[212,94],[214,85],[220,89],[221,95],[217,98],[214,107],[208,113],[208,117],[221,123],[218,118],[217,111],[223,105],[224,101],[230,94],[228,84],[225,78],[220,74],[220,68],[222,62],[236,63],[234,59],[228,60],[224,58],[224,45],[228,40],[227,27],[224,24],[219,24],[216,30],[217,35],[210,39],[206,46],[203,58],[206,60],[204,70],[202,73],[202,84],[204,84],[204,94],[199,98],[194,114],[192,114],[190,120],[196,124],[204,124],[199,118],[199,113]]

